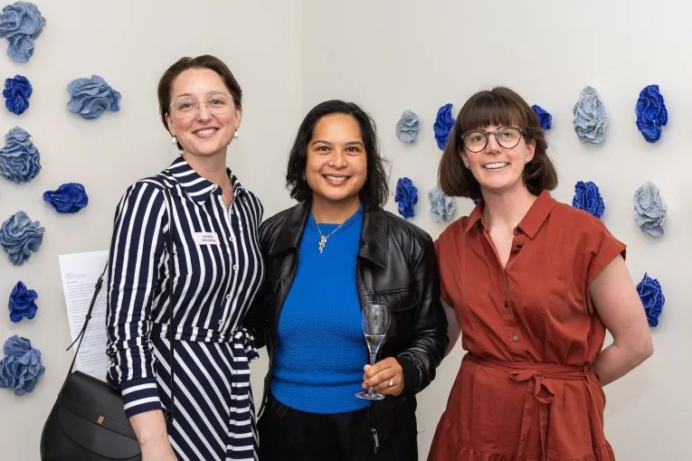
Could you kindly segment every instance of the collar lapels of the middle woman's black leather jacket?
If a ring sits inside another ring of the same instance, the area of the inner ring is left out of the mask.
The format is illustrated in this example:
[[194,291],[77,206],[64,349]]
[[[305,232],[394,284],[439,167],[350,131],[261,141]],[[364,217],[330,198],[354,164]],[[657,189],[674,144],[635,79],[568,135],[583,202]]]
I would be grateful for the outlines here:
[[[270,255],[299,248],[309,212],[309,202],[300,202],[289,209],[286,220],[283,221],[277,238],[271,245]],[[358,256],[372,261],[381,268],[387,267],[387,227],[387,217],[381,207],[365,207]]]

